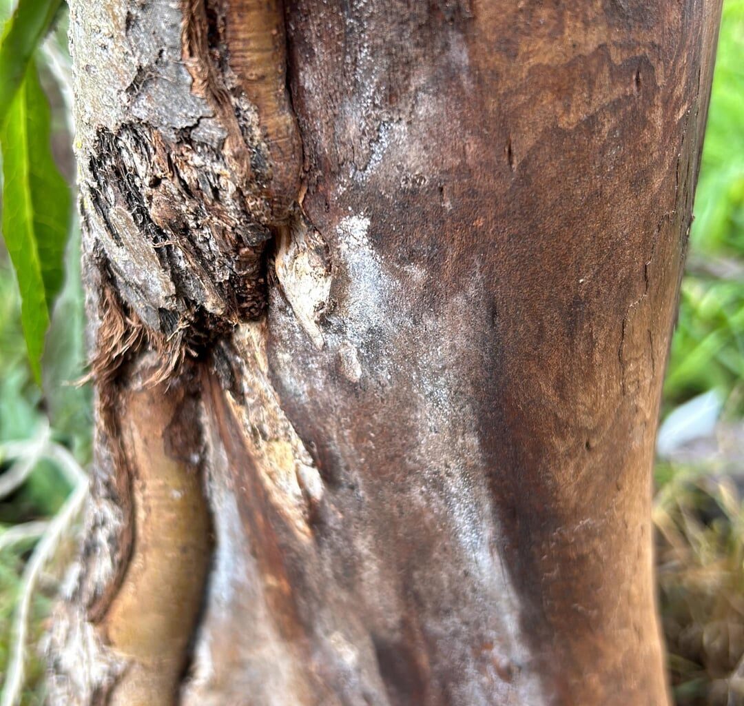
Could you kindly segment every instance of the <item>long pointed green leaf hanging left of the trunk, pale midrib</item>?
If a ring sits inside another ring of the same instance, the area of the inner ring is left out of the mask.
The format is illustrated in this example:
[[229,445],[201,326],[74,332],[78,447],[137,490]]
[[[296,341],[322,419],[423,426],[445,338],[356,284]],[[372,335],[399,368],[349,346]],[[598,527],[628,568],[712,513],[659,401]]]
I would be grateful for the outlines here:
[[60,291],[70,192],[50,147],[50,114],[33,62],[0,130],[2,230],[21,292],[21,322],[36,381],[44,337]]

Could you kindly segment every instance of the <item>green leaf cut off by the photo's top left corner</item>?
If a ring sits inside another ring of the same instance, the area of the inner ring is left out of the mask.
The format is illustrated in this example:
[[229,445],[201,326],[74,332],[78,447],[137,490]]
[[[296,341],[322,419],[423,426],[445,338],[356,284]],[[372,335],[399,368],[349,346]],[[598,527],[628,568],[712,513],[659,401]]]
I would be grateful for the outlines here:
[[0,44],[0,123],[19,90],[33,52],[49,31],[61,0],[20,0]]

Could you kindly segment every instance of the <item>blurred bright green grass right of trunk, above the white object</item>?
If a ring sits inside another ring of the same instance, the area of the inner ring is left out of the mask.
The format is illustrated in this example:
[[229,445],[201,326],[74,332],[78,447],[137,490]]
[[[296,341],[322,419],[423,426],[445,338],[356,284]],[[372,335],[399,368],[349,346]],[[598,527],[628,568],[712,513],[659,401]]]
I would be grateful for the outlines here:
[[666,408],[715,388],[741,416],[743,385],[744,0],[726,0]]

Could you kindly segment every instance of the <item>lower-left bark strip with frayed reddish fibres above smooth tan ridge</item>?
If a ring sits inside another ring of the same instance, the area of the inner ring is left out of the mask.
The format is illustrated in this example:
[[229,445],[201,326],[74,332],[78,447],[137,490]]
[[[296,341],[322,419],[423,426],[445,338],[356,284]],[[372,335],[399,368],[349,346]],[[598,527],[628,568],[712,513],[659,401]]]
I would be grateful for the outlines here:
[[92,499],[50,635],[49,698],[170,704],[211,556],[200,391],[193,366],[165,367],[161,334],[98,291]]

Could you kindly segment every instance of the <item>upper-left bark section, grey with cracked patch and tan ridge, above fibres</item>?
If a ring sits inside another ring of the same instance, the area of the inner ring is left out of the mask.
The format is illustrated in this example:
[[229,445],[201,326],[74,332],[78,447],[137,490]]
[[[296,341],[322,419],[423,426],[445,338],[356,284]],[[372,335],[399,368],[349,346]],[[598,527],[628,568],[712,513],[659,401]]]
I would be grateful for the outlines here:
[[[283,17],[276,3],[121,5],[124,28],[115,17],[110,29],[124,30],[115,43],[130,66],[90,63],[103,57],[86,54],[89,36],[77,50],[83,74],[114,74],[122,102],[81,116],[92,122],[79,149],[83,209],[124,302],[193,355],[263,311],[266,242],[298,196]],[[254,46],[244,25],[271,45]]]

